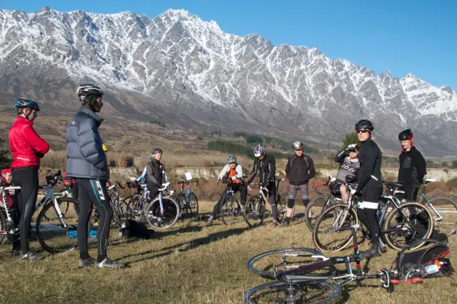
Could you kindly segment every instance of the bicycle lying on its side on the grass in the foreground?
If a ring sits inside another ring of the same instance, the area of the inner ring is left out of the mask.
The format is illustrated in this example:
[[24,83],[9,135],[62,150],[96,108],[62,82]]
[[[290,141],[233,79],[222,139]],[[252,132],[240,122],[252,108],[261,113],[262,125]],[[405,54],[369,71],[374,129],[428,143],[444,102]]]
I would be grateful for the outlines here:
[[[351,231],[353,253],[350,256],[326,257],[312,248],[283,248],[261,253],[248,261],[248,270],[263,278],[275,280],[247,290],[243,303],[336,303],[341,298],[341,286],[367,279],[378,279],[388,292],[393,291],[391,276],[398,271],[381,268],[376,274],[361,270],[362,256],[358,249],[358,225],[343,226],[340,231]],[[356,263],[353,271],[351,263]],[[337,271],[344,264],[346,271]]]

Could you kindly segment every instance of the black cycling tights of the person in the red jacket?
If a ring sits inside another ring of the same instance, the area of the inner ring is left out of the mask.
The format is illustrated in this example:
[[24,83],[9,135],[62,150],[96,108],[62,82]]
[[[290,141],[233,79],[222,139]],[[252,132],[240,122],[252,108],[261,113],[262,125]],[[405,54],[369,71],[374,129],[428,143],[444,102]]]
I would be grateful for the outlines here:
[[[34,215],[36,196],[38,195],[38,167],[12,169],[11,185],[20,186],[16,192],[19,204],[19,235],[22,253],[29,252],[29,229]],[[16,247],[16,243],[13,244]],[[16,248],[13,248],[13,250]]]

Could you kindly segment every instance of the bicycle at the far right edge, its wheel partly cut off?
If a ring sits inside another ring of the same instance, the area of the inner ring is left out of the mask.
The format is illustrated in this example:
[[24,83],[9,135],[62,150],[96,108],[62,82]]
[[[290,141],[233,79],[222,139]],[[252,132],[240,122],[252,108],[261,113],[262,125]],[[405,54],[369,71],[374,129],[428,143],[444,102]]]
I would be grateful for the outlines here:
[[433,215],[435,229],[451,236],[457,231],[457,204],[447,197],[434,197],[429,200],[426,196],[426,189],[428,183],[431,182],[436,182],[436,179],[425,179],[419,187],[418,203],[425,205]]

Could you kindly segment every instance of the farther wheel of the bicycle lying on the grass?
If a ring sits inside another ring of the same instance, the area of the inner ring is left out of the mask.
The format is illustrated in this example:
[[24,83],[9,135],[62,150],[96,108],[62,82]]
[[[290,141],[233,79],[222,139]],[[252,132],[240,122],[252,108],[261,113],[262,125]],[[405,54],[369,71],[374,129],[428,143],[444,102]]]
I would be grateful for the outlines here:
[[[263,278],[276,279],[276,271],[291,271],[298,266],[305,266],[322,261],[321,251],[312,248],[282,248],[266,251],[251,258],[246,266],[248,270]],[[326,279],[331,276],[334,267],[326,267],[303,274],[310,279]]]

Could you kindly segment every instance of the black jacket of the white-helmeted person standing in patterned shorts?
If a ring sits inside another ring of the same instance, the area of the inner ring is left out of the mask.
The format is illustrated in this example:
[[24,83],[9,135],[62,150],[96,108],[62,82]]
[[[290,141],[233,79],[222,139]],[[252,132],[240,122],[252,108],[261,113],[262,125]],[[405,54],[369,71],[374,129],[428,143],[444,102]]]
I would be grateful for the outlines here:
[[314,175],[316,175],[314,162],[308,155],[302,154],[301,157],[298,157],[296,154],[293,154],[288,158],[286,176],[289,184],[295,186],[308,184],[308,181],[312,179]]

